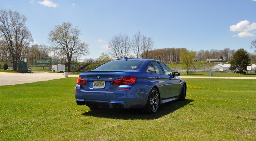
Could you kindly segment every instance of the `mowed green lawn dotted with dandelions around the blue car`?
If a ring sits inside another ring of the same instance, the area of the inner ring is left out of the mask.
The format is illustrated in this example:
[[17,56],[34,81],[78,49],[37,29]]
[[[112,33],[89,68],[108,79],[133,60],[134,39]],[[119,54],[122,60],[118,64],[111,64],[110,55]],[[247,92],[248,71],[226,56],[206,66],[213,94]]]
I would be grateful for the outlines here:
[[255,140],[256,80],[185,79],[157,114],[76,105],[76,78],[0,86],[0,140]]

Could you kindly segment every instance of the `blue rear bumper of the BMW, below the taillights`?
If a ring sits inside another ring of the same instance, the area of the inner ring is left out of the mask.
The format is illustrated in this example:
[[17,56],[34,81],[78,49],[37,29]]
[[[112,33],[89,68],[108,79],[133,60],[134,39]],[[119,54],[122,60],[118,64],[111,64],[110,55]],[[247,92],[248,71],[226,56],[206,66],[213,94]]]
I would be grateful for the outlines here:
[[141,89],[138,86],[129,87],[130,90],[120,88],[117,91],[85,91],[76,85],[76,103],[109,108],[145,108],[150,89]]

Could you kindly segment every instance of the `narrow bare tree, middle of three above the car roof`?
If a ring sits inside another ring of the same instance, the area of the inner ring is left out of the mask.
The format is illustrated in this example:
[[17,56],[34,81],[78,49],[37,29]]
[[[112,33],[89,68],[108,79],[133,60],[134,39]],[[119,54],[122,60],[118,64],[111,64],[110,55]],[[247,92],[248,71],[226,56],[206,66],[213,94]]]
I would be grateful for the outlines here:
[[140,34],[140,31],[138,31],[137,33],[134,34],[132,38],[132,49],[133,49],[133,53],[137,58],[139,58],[140,51],[141,51],[141,36],[142,35]]

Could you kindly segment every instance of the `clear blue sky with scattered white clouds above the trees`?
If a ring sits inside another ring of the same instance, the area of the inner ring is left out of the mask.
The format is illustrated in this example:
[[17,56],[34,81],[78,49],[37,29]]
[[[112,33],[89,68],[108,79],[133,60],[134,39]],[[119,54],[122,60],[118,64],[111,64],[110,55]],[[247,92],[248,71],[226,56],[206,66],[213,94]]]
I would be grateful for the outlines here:
[[71,22],[97,58],[118,33],[151,36],[156,48],[239,49],[252,53],[256,0],[1,0],[0,9],[18,11],[36,44],[48,43],[55,25]]

